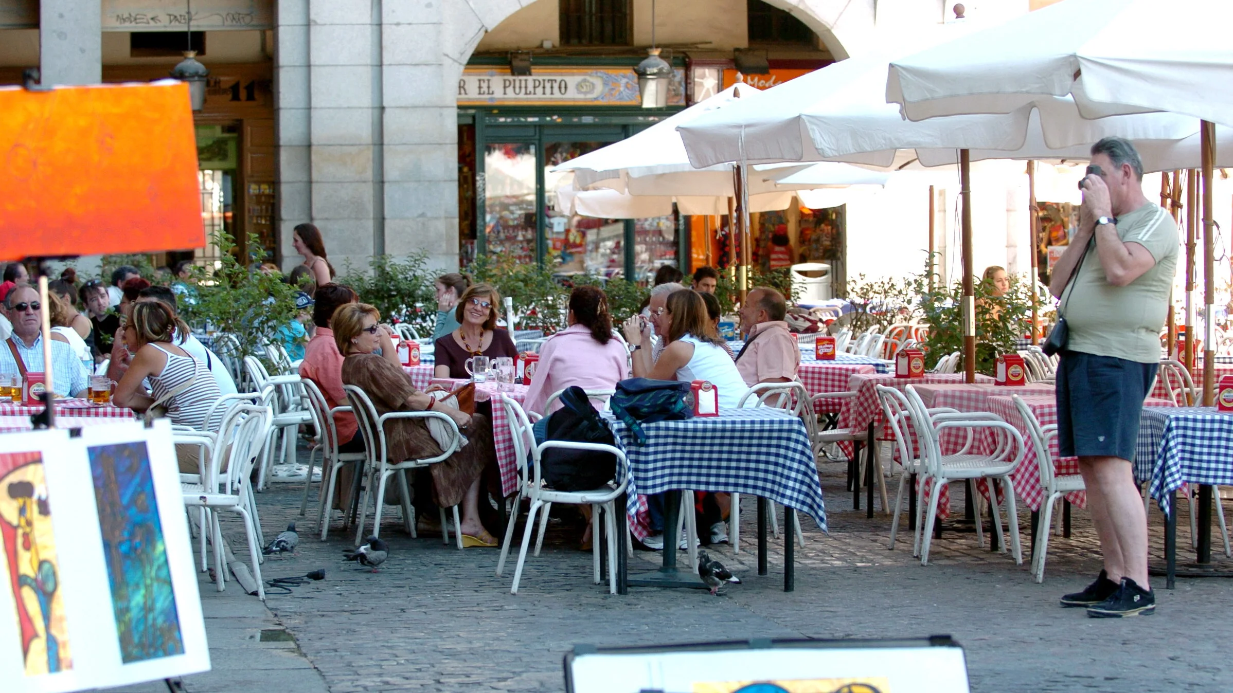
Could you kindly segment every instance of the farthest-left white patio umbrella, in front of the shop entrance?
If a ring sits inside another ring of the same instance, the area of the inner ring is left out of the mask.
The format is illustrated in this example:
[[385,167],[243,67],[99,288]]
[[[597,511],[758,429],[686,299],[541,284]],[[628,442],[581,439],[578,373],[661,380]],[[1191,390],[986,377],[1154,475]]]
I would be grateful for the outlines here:
[[[730,213],[732,201],[747,197],[741,205],[740,215],[740,237],[746,255],[741,261],[743,293],[743,268],[748,265],[750,248],[748,212],[784,210],[792,203],[793,190],[885,185],[888,175],[838,163],[816,166],[764,166],[753,171],[730,162],[709,166],[694,166],[689,163],[677,126],[734,104],[757,101],[761,97],[761,90],[746,84],[735,84],[633,137],[559,164],[551,173],[573,173],[573,180],[567,181],[572,192],[565,191],[565,196],[559,195],[559,199],[571,200],[575,211],[602,210],[616,212],[604,215],[609,218],[636,218],[645,215],[635,215],[634,211],[646,208],[646,205],[655,205],[656,208],[671,212],[672,201],[682,213],[726,215]],[[635,197],[652,196],[658,200],[653,203],[624,200],[599,194],[603,189]],[[566,211],[568,207],[567,203],[559,210]],[[587,216],[600,215],[587,213]]]

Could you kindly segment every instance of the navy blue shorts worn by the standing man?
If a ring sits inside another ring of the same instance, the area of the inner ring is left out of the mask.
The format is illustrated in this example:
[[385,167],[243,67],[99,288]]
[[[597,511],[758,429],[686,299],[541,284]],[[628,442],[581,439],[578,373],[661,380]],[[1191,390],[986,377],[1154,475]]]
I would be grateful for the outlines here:
[[1058,366],[1058,451],[1063,457],[1134,461],[1139,414],[1159,364],[1063,351]]

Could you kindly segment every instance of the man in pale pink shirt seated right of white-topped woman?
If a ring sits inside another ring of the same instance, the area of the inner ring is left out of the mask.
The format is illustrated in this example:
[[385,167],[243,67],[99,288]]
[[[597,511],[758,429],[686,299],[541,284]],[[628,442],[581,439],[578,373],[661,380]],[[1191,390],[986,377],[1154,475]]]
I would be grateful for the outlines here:
[[788,332],[783,295],[766,286],[751,289],[741,306],[745,348],[736,355],[736,370],[748,386],[758,382],[788,382],[800,367],[800,346]]

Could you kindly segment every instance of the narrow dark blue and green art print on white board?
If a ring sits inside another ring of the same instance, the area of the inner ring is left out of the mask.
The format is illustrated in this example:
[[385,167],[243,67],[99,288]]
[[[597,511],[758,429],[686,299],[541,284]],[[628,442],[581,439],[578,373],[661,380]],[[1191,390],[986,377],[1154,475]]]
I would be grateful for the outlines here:
[[89,448],[125,663],[184,654],[145,441]]

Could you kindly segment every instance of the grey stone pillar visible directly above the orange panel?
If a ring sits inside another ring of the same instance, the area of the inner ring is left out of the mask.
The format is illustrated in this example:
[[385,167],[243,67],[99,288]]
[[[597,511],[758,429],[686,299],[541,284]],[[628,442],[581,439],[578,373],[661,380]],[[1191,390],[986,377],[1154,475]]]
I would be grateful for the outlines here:
[[99,0],[42,0],[38,47],[42,84],[102,81],[102,6]]

